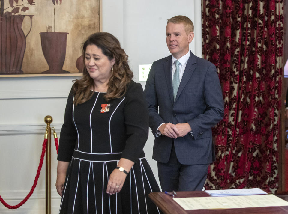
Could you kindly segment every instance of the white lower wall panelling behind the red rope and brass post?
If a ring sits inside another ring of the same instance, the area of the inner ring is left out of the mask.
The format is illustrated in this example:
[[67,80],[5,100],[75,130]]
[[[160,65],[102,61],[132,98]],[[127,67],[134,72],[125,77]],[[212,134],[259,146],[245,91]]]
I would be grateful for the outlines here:
[[[9,205],[16,205],[21,202],[30,192],[34,183],[44,141],[44,132],[41,130],[42,126],[0,126],[0,195]],[[61,125],[58,127],[58,129],[60,129]],[[41,131],[43,133],[40,134]],[[24,132],[23,135],[20,134],[22,132]],[[27,134],[26,132],[29,132],[30,134]],[[55,188],[57,153],[54,138],[53,136],[51,137],[51,212],[54,214],[58,213],[61,197],[58,195]],[[37,186],[28,201],[16,210],[8,209],[0,203],[0,213],[44,214],[46,204],[45,169],[46,156],[44,156],[44,162]]]

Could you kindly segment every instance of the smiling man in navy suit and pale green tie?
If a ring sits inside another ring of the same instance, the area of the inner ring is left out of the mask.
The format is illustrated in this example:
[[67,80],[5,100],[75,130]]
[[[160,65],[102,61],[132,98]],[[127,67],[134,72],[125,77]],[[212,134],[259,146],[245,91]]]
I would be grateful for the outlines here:
[[145,87],[162,191],[202,190],[215,158],[211,127],[224,114],[216,67],[189,50],[193,28],[186,16],[168,19],[172,55],[152,64]]

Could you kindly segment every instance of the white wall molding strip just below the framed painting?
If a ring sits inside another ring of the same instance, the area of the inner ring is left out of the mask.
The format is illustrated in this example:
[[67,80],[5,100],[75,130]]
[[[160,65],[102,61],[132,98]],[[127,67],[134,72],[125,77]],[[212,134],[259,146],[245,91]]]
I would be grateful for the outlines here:
[[70,89],[1,90],[0,100],[26,98],[67,98]]

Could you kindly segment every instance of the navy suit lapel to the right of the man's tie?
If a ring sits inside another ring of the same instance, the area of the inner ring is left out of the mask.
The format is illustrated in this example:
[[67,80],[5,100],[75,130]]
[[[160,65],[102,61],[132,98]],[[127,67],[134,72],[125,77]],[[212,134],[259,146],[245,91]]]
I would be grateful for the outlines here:
[[[171,63],[172,63],[172,58],[171,58]],[[175,101],[178,99],[178,97],[180,96],[181,92],[185,88],[185,86],[186,86],[187,82],[189,81],[190,77],[192,76],[195,68],[196,68],[196,57],[190,51],[190,57],[189,57],[189,59],[187,61],[187,64],[186,64],[186,67],[185,67],[185,70],[184,70],[184,73],[183,73],[183,76],[182,76],[182,79],[181,79],[181,82],[180,82],[180,85],[179,85],[179,88],[178,88],[178,92],[177,92]],[[171,76],[171,74],[170,74],[170,76]],[[170,80],[170,82],[172,82],[172,81]],[[171,83],[171,85],[172,85],[172,83]],[[172,95],[173,95],[173,92],[172,92]]]

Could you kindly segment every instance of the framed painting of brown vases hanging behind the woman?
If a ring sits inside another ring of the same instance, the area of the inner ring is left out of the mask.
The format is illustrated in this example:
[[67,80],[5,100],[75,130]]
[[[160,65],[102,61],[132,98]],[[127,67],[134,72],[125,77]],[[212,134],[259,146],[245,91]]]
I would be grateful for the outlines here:
[[0,0],[0,77],[82,75],[100,1]]

